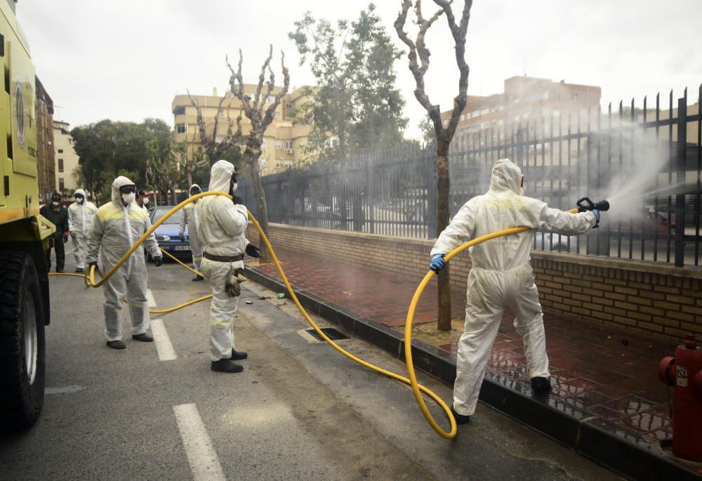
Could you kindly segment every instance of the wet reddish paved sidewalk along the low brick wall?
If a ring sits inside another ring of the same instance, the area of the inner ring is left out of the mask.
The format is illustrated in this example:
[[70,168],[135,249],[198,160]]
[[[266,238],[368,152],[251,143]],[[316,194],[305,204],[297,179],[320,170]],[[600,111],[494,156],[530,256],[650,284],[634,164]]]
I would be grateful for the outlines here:
[[[296,291],[312,294],[341,310],[397,329],[402,336],[406,311],[421,279],[406,279],[381,268],[339,261],[323,253],[300,253],[282,248],[276,249],[276,253]],[[380,263],[378,267],[381,267]],[[256,271],[279,282],[273,264],[257,266]],[[254,280],[258,279],[254,276]],[[435,285],[430,285],[417,308],[413,339],[435,345],[449,356],[455,370],[456,341],[463,329],[465,291],[451,290],[453,331],[437,333],[437,293]],[[513,319],[511,312],[505,313],[491,353],[486,382],[497,383],[522,395],[516,399],[533,400],[522,340],[512,325]],[[668,388],[658,381],[657,373],[661,359],[674,354],[675,343],[649,341],[550,313],[545,313],[544,323],[553,389],[548,398],[536,402],[578,423],[594,421],[598,429],[614,439],[670,458],[670,450],[661,449],[660,441],[672,437],[668,405],[669,395],[672,402],[672,390],[669,393]],[[444,381],[447,381],[446,377]],[[493,404],[490,390],[485,386],[483,390],[486,393],[485,396],[481,393],[481,399]],[[494,407],[503,410],[501,406]],[[519,417],[519,414],[514,414],[515,409],[521,408],[511,406],[508,414]],[[531,424],[529,420],[524,422]],[[532,426],[548,433],[538,424]],[[581,437],[579,431],[577,437]],[[637,461],[632,459],[630,462]],[[688,466],[694,470],[700,467],[702,465]]]

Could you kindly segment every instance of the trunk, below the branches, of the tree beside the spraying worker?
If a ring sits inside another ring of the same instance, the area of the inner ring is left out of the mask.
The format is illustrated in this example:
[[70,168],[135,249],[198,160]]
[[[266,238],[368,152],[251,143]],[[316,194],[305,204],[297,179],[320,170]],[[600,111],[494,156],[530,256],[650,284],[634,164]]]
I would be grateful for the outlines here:
[[[437,140],[437,237],[449,225],[449,143],[446,140]],[[439,317],[437,329],[439,331],[451,330],[451,284],[449,265],[439,273]]]

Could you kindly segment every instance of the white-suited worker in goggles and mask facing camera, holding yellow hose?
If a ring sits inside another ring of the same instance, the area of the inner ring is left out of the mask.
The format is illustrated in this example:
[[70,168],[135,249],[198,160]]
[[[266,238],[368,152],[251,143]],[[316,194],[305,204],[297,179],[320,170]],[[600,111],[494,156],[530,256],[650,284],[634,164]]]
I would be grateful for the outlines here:
[[[102,272],[106,274],[139,237],[151,228],[148,216],[134,202],[135,197],[136,186],[131,180],[124,176],[114,180],[112,202],[100,206],[88,233],[88,269],[91,265],[97,267],[100,250]],[[153,233],[145,239],[144,245],[154,258],[155,265],[159,267],[163,263],[163,257]],[[105,298],[105,337],[110,348],[126,348],[121,340],[125,296],[131,315],[132,338],[142,342],[154,340],[146,334],[150,325],[149,301],[146,298],[147,278],[144,256],[136,251],[102,286]]]

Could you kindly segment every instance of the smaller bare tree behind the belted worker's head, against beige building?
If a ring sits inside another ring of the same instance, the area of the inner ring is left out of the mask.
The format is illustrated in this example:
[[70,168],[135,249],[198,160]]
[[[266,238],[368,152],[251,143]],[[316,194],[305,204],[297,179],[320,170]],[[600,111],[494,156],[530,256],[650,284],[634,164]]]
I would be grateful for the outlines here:
[[[227,92],[228,93],[228,92]],[[227,93],[225,93],[219,100],[219,105],[217,106],[217,114],[215,115],[214,125],[212,131],[207,129],[206,121],[202,115],[202,107],[197,102],[197,99],[190,95],[190,91],[187,91],[187,97],[190,98],[190,103],[197,111],[197,131],[200,136],[200,145],[202,149],[201,155],[195,155],[190,162],[187,163],[187,182],[192,184],[192,173],[195,169],[202,166],[211,166],[219,159],[223,157],[224,152],[226,152],[230,147],[237,145],[239,142],[239,137],[237,133],[234,132],[234,122],[229,115],[229,109],[227,109],[227,133],[222,140],[217,140],[217,135],[220,130],[220,112],[222,112],[222,105],[227,98]],[[241,115],[237,118],[237,124],[241,120]],[[239,133],[241,133],[239,131]]]

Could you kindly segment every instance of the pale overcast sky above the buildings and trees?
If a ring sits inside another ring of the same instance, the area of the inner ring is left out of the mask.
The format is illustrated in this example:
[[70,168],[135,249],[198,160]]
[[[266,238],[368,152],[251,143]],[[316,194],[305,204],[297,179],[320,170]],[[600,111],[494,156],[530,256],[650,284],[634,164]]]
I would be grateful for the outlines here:
[[[4,0],[2,0],[4,1]],[[378,14],[400,46],[392,23],[399,0],[376,0]],[[425,0],[424,11],[435,10]],[[461,4],[460,0],[454,4]],[[171,100],[185,93],[223,93],[234,61],[244,52],[244,81],[257,81],[269,44],[286,53],[291,84],[313,81],[298,65],[288,39],[305,11],[317,18],[355,19],[369,4],[358,0],[20,0],[17,15],[32,58],[55,103],[55,119],[72,126],[101,119],[173,124]],[[503,91],[503,80],[526,71],[602,87],[602,106],[629,103],[660,91],[675,98],[702,82],[698,53],[700,0],[475,0],[468,27],[468,93]],[[458,89],[446,20],[428,34],[427,77],[433,103],[447,110]],[[279,66],[279,60],[274,65]],[[406,99],[407,136],[418,135],[423,115],[414,98],[406,57],[398,86]],[[278,68],[277,72],[280,70]],[[282,75],[278,75],[282,79]]]

